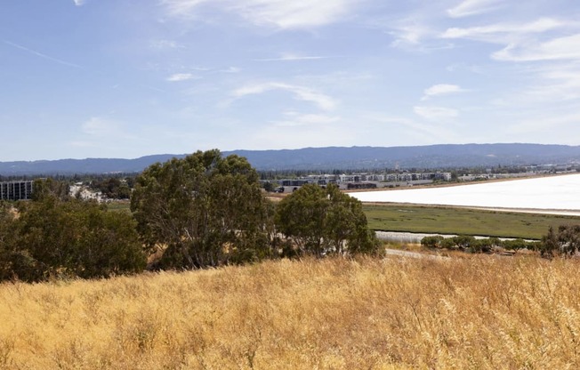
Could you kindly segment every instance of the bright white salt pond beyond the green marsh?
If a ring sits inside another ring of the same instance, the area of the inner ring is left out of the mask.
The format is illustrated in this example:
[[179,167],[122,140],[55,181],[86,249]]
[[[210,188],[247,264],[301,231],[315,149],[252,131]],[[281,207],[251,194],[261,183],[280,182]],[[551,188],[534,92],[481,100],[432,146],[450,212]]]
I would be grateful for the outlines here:
[[360,191],[349,195],[362,202],[455,205],[580,215],[580,174],[443,188]]

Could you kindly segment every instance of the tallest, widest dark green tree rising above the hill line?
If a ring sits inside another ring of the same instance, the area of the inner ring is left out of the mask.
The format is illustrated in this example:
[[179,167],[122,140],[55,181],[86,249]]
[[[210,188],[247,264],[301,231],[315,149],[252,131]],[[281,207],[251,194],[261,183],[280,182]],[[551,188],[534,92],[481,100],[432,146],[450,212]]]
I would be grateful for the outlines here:
[[197,151],[149,166],[136,179],[131,210],[162,268],[205,268],[270,254],[268,207],[258,174],[238,156]]

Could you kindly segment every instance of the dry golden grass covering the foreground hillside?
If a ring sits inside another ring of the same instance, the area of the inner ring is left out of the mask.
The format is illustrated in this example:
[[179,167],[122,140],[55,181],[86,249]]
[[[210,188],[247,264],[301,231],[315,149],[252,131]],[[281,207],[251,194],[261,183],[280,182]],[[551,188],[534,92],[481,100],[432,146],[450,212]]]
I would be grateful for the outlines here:
[[266,261],[0,285],[0,368],[580,368],[578,261]]

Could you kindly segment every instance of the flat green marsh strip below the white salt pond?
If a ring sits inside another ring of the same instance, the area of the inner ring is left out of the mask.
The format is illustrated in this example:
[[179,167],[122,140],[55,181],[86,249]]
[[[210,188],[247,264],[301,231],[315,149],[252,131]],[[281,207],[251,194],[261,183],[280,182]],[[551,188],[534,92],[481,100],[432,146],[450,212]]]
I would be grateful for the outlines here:
[[580,223],[580,217],[485,211],[431,205],[364,204],[368,226],[375,230],[485,237],[540,239],[547,230]]

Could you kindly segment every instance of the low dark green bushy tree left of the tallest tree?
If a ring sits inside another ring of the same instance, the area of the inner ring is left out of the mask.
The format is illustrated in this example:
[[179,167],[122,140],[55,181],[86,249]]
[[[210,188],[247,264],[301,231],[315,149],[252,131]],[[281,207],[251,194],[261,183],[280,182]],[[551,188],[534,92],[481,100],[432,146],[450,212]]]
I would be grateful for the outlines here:
[[129,213],[109,213],[96,202],[52,196],[22,203],[19,211],[13,273],[20,279],[109,277],[145,267]]

